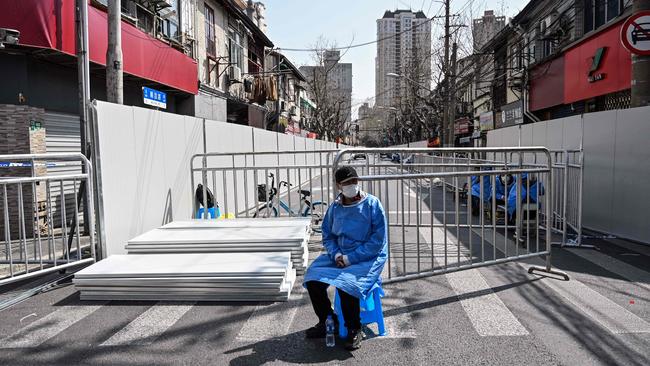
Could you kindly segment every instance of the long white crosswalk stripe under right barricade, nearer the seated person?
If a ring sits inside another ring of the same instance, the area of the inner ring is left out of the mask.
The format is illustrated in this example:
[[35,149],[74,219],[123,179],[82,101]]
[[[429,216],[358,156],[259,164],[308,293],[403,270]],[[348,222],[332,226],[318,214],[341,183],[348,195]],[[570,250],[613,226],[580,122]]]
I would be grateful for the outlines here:
[[[420,233],[429,245],[431,245],[430,230],[431,228],[420,228]],[[442,229],[434,229],[434,240],[443,235],[444,232]],[[456,237],[451,232],[447,232],[447,238],[450,243],[456,242]],[[439,250],[436,250],[437,252]],[[449,248],[447,255],[447,264],[449,266],[454,266],[458,263],[457,254],[457,248]],[[441,265],[439,259],[434,258],[434,260],[437,266]],[[462,246],[460,261],[469,261],[469,258],[463,253]],[[444,263],[442,264],[444,265]],[[445,277],[454,289],[465,313],[480,336],[522,336],[529,334],[526,328],[524,328],[503,301],[501,301],[501,298],[492,292],[492,288],[477,269],[448,273]],[[483,295],[468,296],[477,292],[483,293]]]

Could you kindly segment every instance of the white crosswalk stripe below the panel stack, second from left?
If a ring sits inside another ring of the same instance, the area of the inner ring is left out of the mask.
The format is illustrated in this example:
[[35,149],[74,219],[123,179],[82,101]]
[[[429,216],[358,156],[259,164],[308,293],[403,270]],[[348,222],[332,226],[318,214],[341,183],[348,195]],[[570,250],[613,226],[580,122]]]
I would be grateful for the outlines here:
[[100,346],[148,345],[174,325],[194,303],[159,302]]

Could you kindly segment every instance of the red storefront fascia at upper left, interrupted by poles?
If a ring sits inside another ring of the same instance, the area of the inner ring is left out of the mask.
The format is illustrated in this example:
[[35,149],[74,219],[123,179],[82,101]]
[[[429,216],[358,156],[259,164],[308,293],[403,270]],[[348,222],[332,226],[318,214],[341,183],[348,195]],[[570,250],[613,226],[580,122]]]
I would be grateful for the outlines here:
[[[20,45],[75,55],[73,0],[20,0],[3,2],[0,27],[20,31]],[[92,4],[91,1],[89,3]],[[90,61],[106,65],[107,14],[89,6]],[[132,76],[196,94],[197,64],[183,52],[122,21],[124,71]]]

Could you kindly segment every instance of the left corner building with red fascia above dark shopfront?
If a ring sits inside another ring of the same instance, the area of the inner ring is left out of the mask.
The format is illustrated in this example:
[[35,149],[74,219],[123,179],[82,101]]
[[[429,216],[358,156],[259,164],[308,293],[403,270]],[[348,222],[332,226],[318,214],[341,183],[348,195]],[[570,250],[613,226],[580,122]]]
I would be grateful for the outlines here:
[[[190,36],[193,22],[184,7],[189,3],[122,1],[124,104],[147,107],[142,88],[149,87],[167,94],[166,111],[186,113],[190,109],[198,88]],[[0,28],[18,30],[20,39],[17,45],[0,49],[0,105],[7,111],[19,106],[33,112],[29,120],[12,128],[28,130],[32,122],[44,128],[47,152],[81,151],[76,12],[74,1],[24,0],[1,5]],[[106,0],[89,1],[88,28],[90,97],[106,100]],[[0,124],[0,128],[6,126]],[[0,141],[0,145],[5,143],[9,142]]]

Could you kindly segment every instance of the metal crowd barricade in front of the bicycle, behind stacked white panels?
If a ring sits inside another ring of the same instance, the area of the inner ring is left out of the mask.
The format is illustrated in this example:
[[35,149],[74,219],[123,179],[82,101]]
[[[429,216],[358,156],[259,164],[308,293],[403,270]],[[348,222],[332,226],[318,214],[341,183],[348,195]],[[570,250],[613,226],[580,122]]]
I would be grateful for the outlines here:
[[[223,217],[310,216],[317,226],[327,211],[337,151],[196,154],[190,161],[194,217],[200,206],[208,207],[210,190]],[[198,183],[200,203],[194,197]]]

